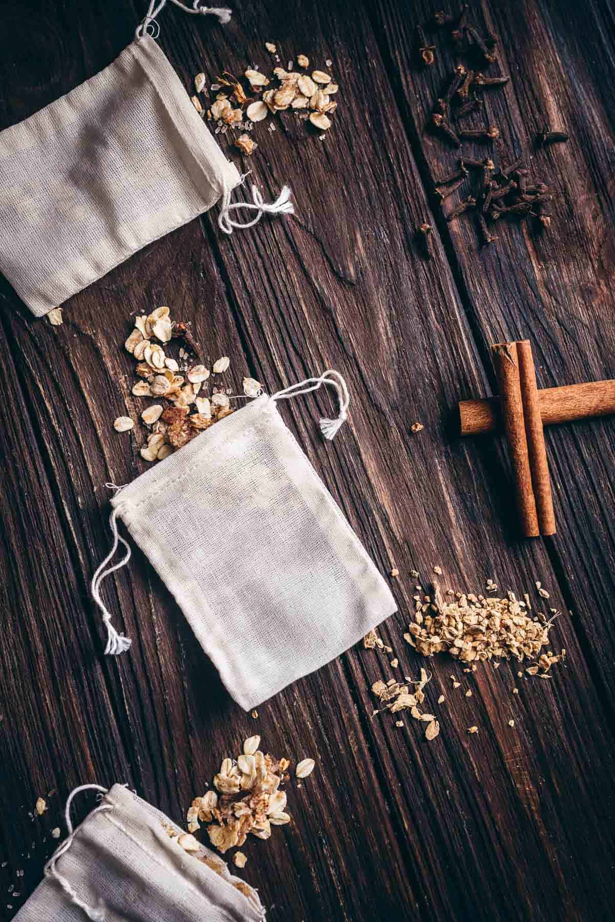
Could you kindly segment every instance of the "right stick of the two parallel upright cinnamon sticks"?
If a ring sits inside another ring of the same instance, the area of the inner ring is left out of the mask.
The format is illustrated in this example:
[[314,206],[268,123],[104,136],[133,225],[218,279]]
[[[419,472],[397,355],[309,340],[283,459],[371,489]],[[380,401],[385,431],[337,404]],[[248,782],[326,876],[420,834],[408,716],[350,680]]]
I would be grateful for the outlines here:
[[527,455],[538,515],[538,530],[541,535],[554,535],[556,531],[555,513],[551,498],[549,462],[538,404],[532,347],[528,339],[516,342],[515,346],[519,364],[523,415],[526,423]]

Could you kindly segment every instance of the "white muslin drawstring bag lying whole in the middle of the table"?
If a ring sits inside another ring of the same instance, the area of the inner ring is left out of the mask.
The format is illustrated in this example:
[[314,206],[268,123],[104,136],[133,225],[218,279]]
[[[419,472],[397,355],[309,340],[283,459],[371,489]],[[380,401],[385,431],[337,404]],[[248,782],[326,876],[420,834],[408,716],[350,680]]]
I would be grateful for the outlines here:
[[[112,550],[92,580],[108,638],[116,632],[101,581],[130,557],[121,518],[232,697],[249,711],[348,650],[396,611],[381,573],[285,425],[278,403],[334,387],[336,420],[349,395],[337,372],[258,396],[160,461],[112,498]],[[124,557],[110,566],[118,543]]]

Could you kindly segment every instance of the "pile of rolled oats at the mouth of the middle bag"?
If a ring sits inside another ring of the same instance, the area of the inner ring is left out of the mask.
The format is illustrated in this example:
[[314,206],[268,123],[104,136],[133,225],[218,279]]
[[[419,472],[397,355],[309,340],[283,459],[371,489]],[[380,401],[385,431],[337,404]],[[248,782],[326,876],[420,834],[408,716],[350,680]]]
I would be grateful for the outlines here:
[[[172,340],[183,343],[179,361],[168,354]],[[230,359],[223,356],[210,372],[198,358],[198,345],[188,325],[173,323],[168,307],[137,316],[124,347],[137,362],[135,371],[140,380],[133,386],[133,395],[162,398],[170,405],[165,408],[154,403],[141,413],[141,421],[148,427],[148,443],[141,448],[146,461],[163,460],[233,412],[231,387],[214,386],[211,394],[208,392],[211,374],[227,372]],[[254,397],[260,392],[258,381],[243,378],[244,396]],[[113,426],[118,432],[130,431],[135,420],[120,416]]]

